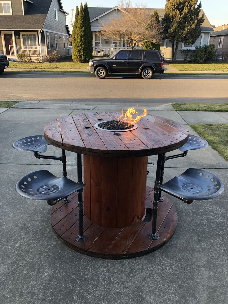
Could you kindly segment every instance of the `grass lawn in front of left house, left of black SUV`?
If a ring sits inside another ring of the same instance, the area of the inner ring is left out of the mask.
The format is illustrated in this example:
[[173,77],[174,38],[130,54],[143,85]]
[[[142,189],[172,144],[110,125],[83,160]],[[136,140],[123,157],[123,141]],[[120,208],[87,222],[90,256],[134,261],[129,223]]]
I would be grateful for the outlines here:
[[42,69],[76,69],[76,68],[85,68],[87,69],[88,63],[75,63],[71,57],[64,57],[58,59],[56,62],[46,62],[46,63],[37,63],[37,62],[16,62],[10,61],[9,68],[42,68]]

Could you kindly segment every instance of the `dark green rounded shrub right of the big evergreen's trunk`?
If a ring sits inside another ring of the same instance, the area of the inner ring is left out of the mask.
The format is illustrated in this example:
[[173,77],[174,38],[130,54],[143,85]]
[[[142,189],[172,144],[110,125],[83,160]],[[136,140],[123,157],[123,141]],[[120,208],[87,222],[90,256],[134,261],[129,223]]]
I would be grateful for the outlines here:
[[196,46],[192,51],[190,59],[193,63],[202,63],[213,60],[216,56],[216,50],[214,44],[204,46]]

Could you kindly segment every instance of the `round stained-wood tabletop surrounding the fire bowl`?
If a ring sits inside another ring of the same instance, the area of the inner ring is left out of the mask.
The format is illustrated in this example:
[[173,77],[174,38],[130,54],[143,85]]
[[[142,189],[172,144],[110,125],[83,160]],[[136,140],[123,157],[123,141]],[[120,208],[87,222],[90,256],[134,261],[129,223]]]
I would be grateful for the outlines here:
[[186,143],[185,126],[167,118],[147,115],[138,128],[126,132],[96,129],[99,121],[116,120],[120,112],[88,112],[51,121],[44,127],[45,139],[72,152],[107,157],[149,156],[176,150]]

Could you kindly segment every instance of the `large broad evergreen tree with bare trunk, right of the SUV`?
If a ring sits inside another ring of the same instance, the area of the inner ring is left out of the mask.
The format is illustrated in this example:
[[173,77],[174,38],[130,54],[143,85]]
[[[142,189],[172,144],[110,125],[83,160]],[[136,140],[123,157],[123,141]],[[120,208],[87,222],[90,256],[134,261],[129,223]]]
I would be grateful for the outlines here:
[[176,61],[178,44],[194,44],[200,37],[200,25],[204,15],[200,17],[201,2],[198,0],[167,0],[162,25],[165,38],[172,43],[172,61]]

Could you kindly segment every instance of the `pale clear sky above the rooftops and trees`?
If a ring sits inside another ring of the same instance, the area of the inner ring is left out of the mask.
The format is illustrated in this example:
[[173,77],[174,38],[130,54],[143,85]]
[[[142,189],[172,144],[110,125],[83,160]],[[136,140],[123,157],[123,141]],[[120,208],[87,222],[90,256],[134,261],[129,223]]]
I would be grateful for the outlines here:
[[[86,2],[82,0],[84,4]],[[150,0],[150,1],[134,1],[132,4],[142,2],[147,4],[148,8],[164,8],[165,0]],[[72,20],[71,8],[76,8],[76,5],[80,7],[80,0],[62,0],[64,10],[69,13],[67,16],[67,24],[70,26]],[[210,24],[219,26],[222,24],[228,24],[228,1],[227,0],[201,0],[202,9],[205,15],[208,17]],[[88,7],[114,7],[118,4],[118,0],[87,0]]]

